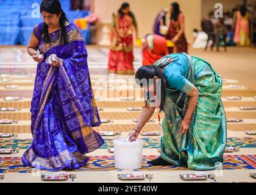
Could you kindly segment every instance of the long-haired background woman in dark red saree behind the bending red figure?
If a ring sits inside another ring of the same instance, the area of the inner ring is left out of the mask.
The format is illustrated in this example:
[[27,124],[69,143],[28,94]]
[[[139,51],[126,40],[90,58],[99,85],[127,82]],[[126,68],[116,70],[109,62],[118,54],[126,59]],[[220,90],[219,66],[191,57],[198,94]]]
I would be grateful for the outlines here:
[[185,16],[180,12],[179,4],[171,4],[171,23],[166,34],[166,39],[174,43],[173,48],[168,48],[169,54],[188,53],[188,43],[185,37]]

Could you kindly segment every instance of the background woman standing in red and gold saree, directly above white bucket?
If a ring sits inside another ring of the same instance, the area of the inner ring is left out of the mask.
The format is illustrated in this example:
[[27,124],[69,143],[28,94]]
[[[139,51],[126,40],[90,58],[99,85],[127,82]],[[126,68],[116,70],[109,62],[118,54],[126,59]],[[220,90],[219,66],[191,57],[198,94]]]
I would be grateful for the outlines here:
[[125,2],[113,14],[111,46],[108,59],[108,73],[134,74],[133,69],[133,27],[138,38],[138,26],[130,5]]

